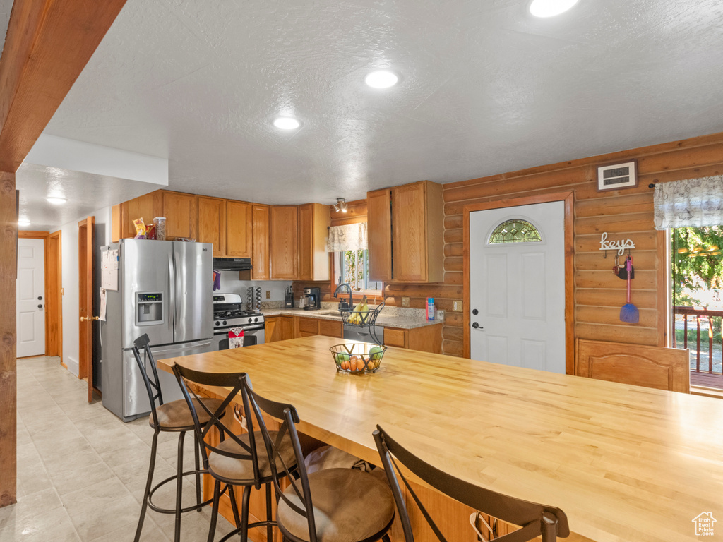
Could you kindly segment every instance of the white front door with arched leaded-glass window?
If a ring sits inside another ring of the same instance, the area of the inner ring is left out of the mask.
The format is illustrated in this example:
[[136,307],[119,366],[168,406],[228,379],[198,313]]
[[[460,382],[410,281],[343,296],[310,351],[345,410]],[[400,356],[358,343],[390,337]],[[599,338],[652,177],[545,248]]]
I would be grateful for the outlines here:
[[471,358],[564,374],[565,202],[471,212],[469,256]]

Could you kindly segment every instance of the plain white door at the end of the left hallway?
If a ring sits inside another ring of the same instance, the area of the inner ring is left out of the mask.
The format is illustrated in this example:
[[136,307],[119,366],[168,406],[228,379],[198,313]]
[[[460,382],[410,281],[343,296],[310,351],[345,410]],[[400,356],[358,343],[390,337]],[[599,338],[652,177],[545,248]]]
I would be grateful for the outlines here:
[[45,354],[45,241],[17,241],[17,357]]

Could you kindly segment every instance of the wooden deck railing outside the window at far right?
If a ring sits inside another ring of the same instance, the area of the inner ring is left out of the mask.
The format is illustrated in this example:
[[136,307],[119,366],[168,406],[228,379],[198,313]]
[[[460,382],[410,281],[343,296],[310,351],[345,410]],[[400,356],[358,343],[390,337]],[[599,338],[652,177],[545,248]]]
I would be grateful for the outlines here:
[[[695,309],[690,306],[675,306],[673,307],[673,313],[673,347],[690,348],[690,371],[692,373],[691,376],[696,373],[702,373],[723,377],[723,337],[720,332],[714,332],[714,319],[723,318],[723,311]],[[677,341],[675,337],[676,325],[680,324],[679,317],[683,317],[682,344],[680,341]],[[688,342],[688,327],[690,325],[692,329],[691,324],[694,325],[696,329],[696,341],[693,344],[689,344]],[[702,364],[701,346],[703,347]],[[704,351],[706,349],[708,350],[707,356],[705,355]],[[693,365],[693,359],[695,359],[695,365]]]

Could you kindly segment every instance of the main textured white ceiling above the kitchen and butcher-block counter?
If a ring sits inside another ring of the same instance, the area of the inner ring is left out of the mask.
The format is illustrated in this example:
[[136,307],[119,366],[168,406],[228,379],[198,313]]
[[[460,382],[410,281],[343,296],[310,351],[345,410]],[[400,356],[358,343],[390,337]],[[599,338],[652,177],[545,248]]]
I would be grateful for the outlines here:
[[[526,4],[128,0],[46,132],[168,158],[171,189],[301,203],[723,130],[720,0]],[[380,66],[401,83],[366,87]]]

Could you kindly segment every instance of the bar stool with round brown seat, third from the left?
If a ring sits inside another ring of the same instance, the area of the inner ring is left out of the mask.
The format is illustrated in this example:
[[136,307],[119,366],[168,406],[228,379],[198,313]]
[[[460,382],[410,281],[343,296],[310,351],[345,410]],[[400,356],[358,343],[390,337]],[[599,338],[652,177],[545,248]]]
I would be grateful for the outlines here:
[[[389,542],[387,532],[394,521],[394,499],[387,484],[369,473],[350,468],[328,468],[307,473],[292,405],[265,399],[244,379],[244,408],[250,405],[268,450],[273,483],[279,500],[276,524],[285,541],[291,542]],[[281,420],[277,434],[266,429],[263,414]],[[251,423],[252,416],[247,416]],[[249,428],[250,429],[250,428]],[[294,463],[283,457],[283,439],[294,449]],[[289,485],[281,488],[281,476]]]

